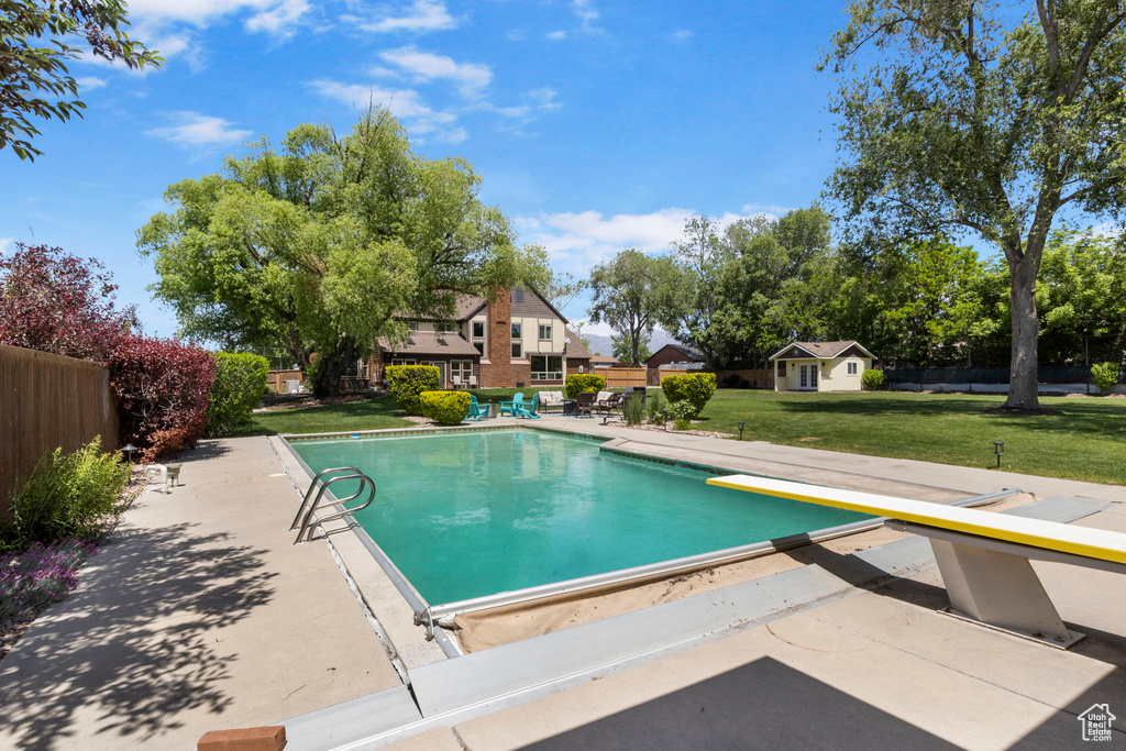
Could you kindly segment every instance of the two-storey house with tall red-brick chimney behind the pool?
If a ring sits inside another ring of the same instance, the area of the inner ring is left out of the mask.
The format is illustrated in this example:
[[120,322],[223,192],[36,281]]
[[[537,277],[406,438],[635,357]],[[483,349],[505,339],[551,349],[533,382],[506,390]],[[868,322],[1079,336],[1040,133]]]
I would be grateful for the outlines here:
[[590,354],[566,330],[568,320],[533,289],[515,287],[492,303],[459,295],[454,315],[403,315],[410,336],[397,346],[379,340],[370,377],[382,382],[388,365],[434,365],[443,388],[500,388],[562,385],[565,374],[590,369]]

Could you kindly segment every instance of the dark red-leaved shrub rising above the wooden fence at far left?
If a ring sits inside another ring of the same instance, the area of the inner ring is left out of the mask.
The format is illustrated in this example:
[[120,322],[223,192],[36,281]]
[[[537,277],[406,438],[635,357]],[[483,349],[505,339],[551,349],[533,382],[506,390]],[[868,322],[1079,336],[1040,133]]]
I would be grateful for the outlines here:
[[0,256],[0,343],[98,363],[136,327],[133,307],[117,310],[117,285],[92,258],[60,248],[16,243]]

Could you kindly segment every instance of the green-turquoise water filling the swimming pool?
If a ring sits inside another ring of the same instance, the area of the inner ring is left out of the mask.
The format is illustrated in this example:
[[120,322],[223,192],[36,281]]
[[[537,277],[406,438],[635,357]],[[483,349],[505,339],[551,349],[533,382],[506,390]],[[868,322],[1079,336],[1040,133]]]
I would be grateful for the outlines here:
[[314,472],[349,465],[375,480],[375,502],[356,520],[431,605],[866,518],[713,488],[706,472],[536,430],[302,440],[293,448]]

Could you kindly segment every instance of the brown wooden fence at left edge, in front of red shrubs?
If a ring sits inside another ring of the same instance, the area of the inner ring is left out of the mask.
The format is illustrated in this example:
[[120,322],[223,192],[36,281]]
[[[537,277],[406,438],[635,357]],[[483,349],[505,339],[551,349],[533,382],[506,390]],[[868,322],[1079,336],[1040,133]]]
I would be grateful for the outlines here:
[[0,517],[8,513],[16,477],[44,452],[73,452],[95,436],[102,450],[117,448],[109,368],[0,345]]

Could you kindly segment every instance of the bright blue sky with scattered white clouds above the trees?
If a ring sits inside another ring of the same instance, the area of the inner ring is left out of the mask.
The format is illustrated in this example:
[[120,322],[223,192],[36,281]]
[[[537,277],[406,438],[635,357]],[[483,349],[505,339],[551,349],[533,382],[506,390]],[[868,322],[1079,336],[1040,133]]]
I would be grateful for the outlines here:
[[[834,162],[814,72],[837,2],[133,0],[164,69],[80,61],[84,119],[43,123],[34,163],[0,152],[0,247],[100,259],[151,333],[134,232],[168,185],[217,171],[248,137],[340,129],[369,92],[428,157],[470,160],[482,198],[583,276],[626,247],[668,248],[687,217],[778,214]],[[580,301],[564,311],[584,316]],[[604,327],[588,331],[606,333]]]

